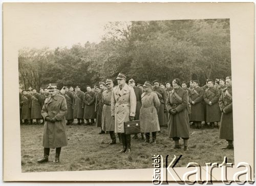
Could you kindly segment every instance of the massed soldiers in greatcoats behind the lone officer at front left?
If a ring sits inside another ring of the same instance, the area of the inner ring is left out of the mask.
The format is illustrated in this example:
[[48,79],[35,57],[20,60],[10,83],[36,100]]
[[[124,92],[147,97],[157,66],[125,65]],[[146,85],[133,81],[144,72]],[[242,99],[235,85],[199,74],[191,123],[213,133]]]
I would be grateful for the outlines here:
[[[187,83],[178,78],[165,84],[155,80],[153,84],[146,81],[137,86],[134,79],[129,79],[126,84],[126,75],[123,73],[119,73],[116,79],[118,85],[115,87],[112,79],[106,79],[106,82],[99,82],[96,87],[87,86],[87,92],[82,92],[80,86],[75,89],[54,88],[57,95],[65,98],[67,109],[65,115],[62,113],[62,119],[67,120],[65,125],[75,124],[74,119],[77,119],[78,125],[92,125],[96,120],[96,126],[100,127],[99,134],[110,134],[110,145],[116,144],[116,134],[118,135],[123,145],[119,153],[131,152],[131,135],[126,135],[124,131],[126,121],[140,120],[141,139],[145,140],[145,143],[156,144],[157,131],[160,131],[160,127],[168,127],[168,137],[175,141],[174,148],[181,148],[179,140],[182,138],[184,150],[188,149],[189,128],[201,129],[202,125],[209,128],[218,126],[220,139],[228,141],[228,146],[223,149],[233,149],[231,76],[225,80],[207,79],[202,87],[199,87],[198,81]],[[53,90],[52,86],[49,90]],[[41,109],[42,113],[47,112],[46,103],[49,100],[54,101],[48,89],[40,89],[39,93],[35,89],[31,94],[25,90],[20,93],[20,119],[24,120],[24,123],[32,123],[31,119],[39,123],[44,119],[46,125],[47,122],[60,120],[42,118],[44,114],[41,114]],[[58,108],[55,110],[56,113],[60,112]],[[63,132],[65,130],[66,128]],[[133,138],[138,138],[138,135]],[[64,144],[66,145],[66,142]],[[48,146],[47,148],[52,148]],[[56,156],[59,157],[59,146],[54,148]],[[48,161],[48,155],[46,150],[45,158],[39,160],[39,163]],[[58,158],[56,161],[59,161]]]

